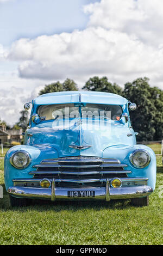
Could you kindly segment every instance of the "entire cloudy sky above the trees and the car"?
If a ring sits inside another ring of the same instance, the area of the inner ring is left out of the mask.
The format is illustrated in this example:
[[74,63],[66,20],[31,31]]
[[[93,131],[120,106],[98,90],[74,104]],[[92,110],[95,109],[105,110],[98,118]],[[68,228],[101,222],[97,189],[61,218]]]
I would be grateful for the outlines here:
[[92,76],[163,89],[162,0],[0,0],[0,118],[45,84]]

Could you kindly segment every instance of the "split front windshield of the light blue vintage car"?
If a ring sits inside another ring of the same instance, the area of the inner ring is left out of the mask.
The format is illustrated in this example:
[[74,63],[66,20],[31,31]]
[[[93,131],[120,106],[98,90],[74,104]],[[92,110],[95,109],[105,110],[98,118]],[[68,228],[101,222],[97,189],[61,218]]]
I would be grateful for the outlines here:
[[122,107],[118,105],[103,105],[91,103],[69,103],[55,105],[41,105],[37,114],[44,120],[57,118],[108,118],[120,120]]

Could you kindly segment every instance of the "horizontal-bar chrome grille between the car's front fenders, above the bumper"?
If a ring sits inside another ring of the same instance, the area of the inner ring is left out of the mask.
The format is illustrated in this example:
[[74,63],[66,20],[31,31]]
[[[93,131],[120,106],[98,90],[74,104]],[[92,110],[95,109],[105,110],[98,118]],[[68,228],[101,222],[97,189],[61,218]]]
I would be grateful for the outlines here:
[[[127,164],[121,164],[117,159],[102,159],[100,157],[61,157],[59,159],[43,160],[40,164],[33,166],[37,168],[33,174],[35,179],[60,179],[56,182],[59,187],[82,187],[92,186],[91,182],[84,182],[92,179],[126,178],[130,170],[124,170]],[[68,182],[66,181],[68,180]],[[80,182],[71,182],[80,180]],[[66,185],[65,182],[66,181]],[[93,186],[102,186],[103,182],[94,182]],[[105,182],[104,182],[105,186]]]

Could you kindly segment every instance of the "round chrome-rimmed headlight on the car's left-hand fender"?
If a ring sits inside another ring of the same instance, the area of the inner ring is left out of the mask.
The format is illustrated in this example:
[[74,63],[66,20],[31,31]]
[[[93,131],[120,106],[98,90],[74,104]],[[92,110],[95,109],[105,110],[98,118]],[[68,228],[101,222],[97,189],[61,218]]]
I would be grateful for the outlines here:
[[12,166],[18,169],[25,168],[30,163],[30,156],[29,154],[24,150],[18,150],[16,153],[14,153],[10,158],[10,163]]

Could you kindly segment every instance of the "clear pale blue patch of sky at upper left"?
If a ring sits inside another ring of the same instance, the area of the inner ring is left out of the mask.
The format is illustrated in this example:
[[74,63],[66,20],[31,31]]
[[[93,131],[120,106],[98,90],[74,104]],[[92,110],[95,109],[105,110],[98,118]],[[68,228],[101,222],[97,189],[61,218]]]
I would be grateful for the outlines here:
[[85,28],[89,16],[83,5],[98,0],[9,0],[0,1],[0,43],[9,46],[20,38],[72,32]]

